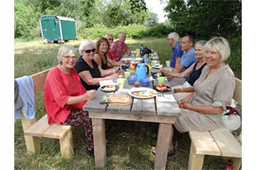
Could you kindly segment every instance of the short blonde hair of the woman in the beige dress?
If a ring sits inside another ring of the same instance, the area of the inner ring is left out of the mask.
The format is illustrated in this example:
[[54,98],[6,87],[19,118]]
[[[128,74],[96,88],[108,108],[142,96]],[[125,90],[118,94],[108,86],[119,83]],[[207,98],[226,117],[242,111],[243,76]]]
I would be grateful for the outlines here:
[[220,61],[229,59],[230,47],[229,42],[223,37],[214,37],[208,41],[204,47],[204,54],[207,50],[219,53]]

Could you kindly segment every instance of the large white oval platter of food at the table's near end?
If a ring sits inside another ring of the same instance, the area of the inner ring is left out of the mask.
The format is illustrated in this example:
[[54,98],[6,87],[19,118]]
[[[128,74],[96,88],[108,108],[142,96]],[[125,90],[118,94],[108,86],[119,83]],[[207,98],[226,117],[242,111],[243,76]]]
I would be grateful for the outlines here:
[[133,88],[128,91],[128,94],[136,98],[153,98],[157,92],[150,88]]

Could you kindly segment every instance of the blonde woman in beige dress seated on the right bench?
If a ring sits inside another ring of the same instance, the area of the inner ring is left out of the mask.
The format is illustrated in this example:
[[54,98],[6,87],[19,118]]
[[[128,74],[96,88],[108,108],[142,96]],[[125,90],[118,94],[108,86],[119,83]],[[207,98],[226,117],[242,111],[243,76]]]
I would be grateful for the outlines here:
[[[222,124],[222,111],[230,105],[235,89],[235,77],[226,60],[230,55],[229,42],[216,37],[206,43],[204,55],[207,66],[194,82],[194,92],[178,101],[181,114],[174,127],[179,132],[205,131]],[[174,128],[171,130],[168,156],[174,155]],[[155,152],[155,147],[152,148]]]

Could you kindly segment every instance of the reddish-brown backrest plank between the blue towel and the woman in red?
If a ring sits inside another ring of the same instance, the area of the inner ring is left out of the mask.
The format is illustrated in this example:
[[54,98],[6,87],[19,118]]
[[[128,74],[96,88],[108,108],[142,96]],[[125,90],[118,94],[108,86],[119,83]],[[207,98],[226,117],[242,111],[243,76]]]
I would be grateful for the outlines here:
[[46,82],[46,76],[47,76],[50,69],[47,69],[43,72],[32,75],[33,82],[34,82],[34,93],[38,93],[38,92],[44,90],[45,82]]

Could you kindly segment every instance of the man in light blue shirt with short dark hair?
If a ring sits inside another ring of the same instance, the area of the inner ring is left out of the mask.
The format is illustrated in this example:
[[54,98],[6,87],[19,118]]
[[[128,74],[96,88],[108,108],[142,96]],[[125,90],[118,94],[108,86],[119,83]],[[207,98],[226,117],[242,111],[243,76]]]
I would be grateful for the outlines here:
[[[195,62],[197,59],[194,57],[194,49],[193,49],[193,38],[192,36],[188,35],[182,38],[181,42],[181,49],[183,51],[183,55],[181,57],[181,60],[179,62],[179,65],[175,67],[172,72],[181,73],[187,68],[189,68],[193,62]],[[162,72],[165,76],[167,76],[167,79],[169,81],[169,84],[171,87],[182,85],[188,77],[174,77],[170,76],[168,73],[170,71],[165,69],[160,69],[160,72]]]

